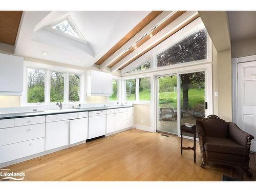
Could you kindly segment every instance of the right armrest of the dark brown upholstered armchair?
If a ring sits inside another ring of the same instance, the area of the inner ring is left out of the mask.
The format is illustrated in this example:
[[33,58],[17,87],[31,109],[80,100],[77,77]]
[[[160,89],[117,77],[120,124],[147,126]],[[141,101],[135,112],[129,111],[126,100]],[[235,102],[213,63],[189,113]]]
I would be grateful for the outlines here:
[[241,130],[236,123],[229,123],[229,138],[250,150],[251,140],[254,137]]

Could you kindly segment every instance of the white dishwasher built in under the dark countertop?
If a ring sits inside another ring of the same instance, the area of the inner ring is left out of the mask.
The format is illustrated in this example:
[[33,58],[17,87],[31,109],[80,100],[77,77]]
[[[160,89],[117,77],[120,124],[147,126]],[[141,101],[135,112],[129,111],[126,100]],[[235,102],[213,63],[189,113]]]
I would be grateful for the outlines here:
[[106,110],[89,112],[88,139],[106,134]]

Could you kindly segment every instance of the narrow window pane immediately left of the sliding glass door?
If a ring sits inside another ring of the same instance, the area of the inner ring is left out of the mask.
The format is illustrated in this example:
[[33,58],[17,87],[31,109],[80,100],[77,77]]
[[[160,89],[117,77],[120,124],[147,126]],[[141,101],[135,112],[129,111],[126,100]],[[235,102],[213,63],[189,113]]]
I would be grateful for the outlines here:
[[139,100],[150,101],[150,77],[140,78],[139,80]]

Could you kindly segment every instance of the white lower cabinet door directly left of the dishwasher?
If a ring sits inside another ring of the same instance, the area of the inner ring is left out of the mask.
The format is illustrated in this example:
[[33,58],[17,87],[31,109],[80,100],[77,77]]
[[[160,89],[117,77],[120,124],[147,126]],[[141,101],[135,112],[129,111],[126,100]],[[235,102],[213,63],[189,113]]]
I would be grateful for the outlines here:
[[88,139],[88,118],[69,121],[69,144]]

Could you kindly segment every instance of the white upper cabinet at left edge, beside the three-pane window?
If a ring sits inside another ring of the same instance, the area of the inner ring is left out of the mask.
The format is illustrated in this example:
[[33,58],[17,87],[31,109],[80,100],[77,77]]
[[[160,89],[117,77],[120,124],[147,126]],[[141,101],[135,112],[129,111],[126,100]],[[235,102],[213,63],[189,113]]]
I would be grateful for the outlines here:
[[0,95],[22,95],[23,57],[0,53]]

